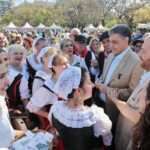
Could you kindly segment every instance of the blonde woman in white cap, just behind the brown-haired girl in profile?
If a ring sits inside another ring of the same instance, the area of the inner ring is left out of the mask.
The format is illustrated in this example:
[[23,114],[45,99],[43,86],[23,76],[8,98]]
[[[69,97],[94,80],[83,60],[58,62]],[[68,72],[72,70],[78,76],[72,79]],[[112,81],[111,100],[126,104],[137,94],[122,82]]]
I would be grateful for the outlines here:
[[34,94],[40,87],[43,86],[44,82],[50,77],[51,69],[49,68],[49,61],[57,54],[57,49],[51,47],[43,48],[39,55],[38,61],[43,64],[43,69],[39,70],[35,74],[33,81],[32,94]]

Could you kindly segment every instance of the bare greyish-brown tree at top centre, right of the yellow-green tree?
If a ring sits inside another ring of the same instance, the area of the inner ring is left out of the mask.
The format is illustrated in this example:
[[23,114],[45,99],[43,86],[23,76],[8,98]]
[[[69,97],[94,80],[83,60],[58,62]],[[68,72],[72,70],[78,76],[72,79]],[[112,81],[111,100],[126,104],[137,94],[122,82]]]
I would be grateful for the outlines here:
[[84,27],[90,23],[98,25],[101,20],[101,7],[97,0],[63,0],[57,5],[63,6],[70,27]]

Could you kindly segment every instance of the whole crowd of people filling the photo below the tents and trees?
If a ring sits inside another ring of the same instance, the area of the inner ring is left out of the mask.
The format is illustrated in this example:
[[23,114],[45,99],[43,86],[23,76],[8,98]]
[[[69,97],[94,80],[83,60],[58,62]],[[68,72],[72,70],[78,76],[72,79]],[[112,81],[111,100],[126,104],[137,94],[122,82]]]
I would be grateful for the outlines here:
[[38,127],[55,150],[149,150],[150,34],[42,35],[0,33],[0,149]]

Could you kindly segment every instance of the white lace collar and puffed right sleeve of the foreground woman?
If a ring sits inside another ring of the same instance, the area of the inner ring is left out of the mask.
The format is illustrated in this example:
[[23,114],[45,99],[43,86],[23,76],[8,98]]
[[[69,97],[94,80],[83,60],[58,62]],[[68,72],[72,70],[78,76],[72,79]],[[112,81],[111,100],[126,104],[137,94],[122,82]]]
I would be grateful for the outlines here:
[[105,145],[111,145],[112,123],[109,117],[104,113],[102,108],[93,105],[92,107],[83,106],[82,108],[71,109],[66,102],[56,102],[49,113],[49,120],[52,115],[66,127],[83,128],[93,126],[94,135],[102,135]]

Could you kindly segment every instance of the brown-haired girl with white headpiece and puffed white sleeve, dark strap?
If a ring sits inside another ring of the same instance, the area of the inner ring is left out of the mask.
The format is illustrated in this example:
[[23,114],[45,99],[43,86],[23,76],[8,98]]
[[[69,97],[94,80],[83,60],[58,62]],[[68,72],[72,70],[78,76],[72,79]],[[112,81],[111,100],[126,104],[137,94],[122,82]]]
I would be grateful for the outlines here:
[[44,85],[33,94],[29,103],[27,104],[27,109],[30,112],[47,118],[48,112],[43,111],[42,108],[48,104],[54,104],[58,100],[58,96],[53,92],[53,88],[60,74],[67,67],[68,59],[65,55],[60,53],[51,57],[49,60],[49,68],[51,69],[52,73],[45,81]]

